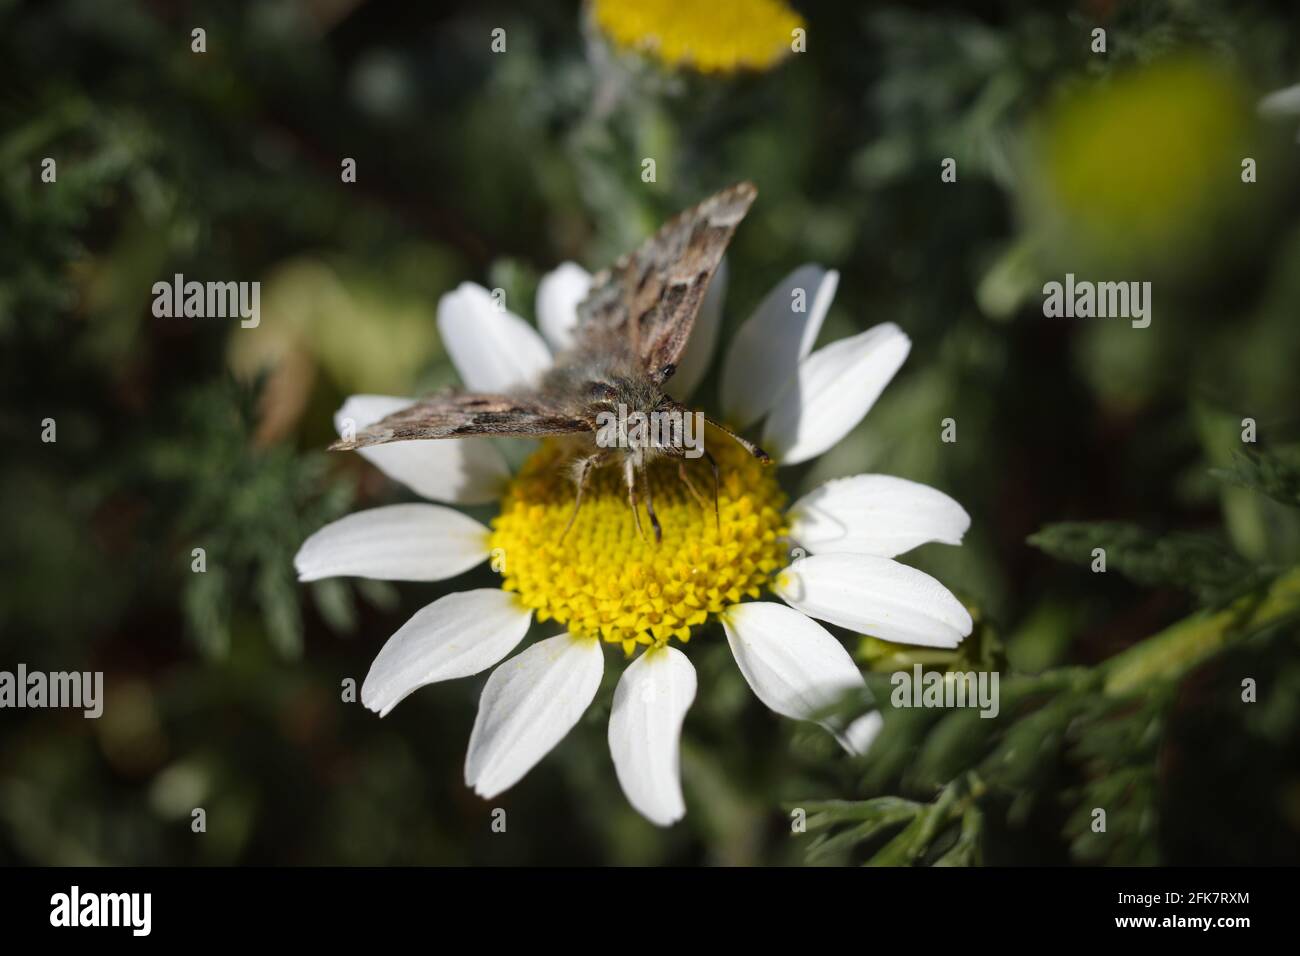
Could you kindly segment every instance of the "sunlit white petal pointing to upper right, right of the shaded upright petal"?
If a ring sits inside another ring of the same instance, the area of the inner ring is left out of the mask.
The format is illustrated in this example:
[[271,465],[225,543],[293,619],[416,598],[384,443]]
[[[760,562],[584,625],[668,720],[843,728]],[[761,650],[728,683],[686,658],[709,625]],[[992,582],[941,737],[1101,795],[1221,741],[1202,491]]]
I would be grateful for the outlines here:
[[902,329],[885,323],[812,352],[776,399],[763,447],[780,464],[820,455],[862,421],[910,350]]

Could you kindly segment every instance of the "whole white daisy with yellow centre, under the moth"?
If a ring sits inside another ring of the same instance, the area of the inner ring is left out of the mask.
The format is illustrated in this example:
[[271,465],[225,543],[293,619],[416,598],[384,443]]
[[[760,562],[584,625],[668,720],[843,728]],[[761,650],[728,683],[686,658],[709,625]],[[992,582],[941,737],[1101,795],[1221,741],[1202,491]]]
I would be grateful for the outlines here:
[[[806,462],[840,441],[911,347],[885,323],[812,351],[837,281],[836,272],[816,265],[792,272],[741,326],[724,360],[723,418],[737,429],[762,423],[760,444],[776,464]],[[465,386],[502,392],[536,382],[552,352],[572,341],[589,285],[590,276],[573,264],[542,280],[541,334],[498,310],[477,285],[445,295],[438,329]],[[719,271],[673,378],[680,401],[710,364],[724,286]],[[792,310],[796,289],[809,293],[806,311]],[[364,428],[411,402],[356,395],[335,424]],[[694,628],[722,620],[740,671],[763,704],[794,719],[822,719],[864,682],[819,620],[939,648],[957,646],[971,632],[961,601],[894,561],[927,541],[959,544],[970,525],[961,505],[914,481],[857,475],[786,509],[774,470],[715,437],[716,524],[712,502],[690,493],[675,462],[650,466],[660,542],[637,532],[618,470],[592,475],[573,516],[573,484],[558,467],[563,458],[554,442],[543,442],[514,476],[489,438],[363,449],[390,477],[443,503],[376,507],[321,528],[298,553],[300,580],[437,581],[489,559],[503,575],[500,588],[441,597],[394,633],[365,678],[365,706],[382,717],[425,684],[485,671],[524,640],[534,618],[555,620],[560,633],[502,663],[484,687],[465,783],[490,799],[577,723],[601,684],[603,643],[621,645],[629,657],[644,648],[614,695],[610,753],[630,804],[667,826],[685,814],[679,743],[696,696],[694,667],[673,641],[685,644]],[[701,480],[711,485],[711,475]],[[500,511],[490,528],[448,507],[491,501]],[[801,557],[790,561],[792,553]],[[764,592],[779,601],[753,600]],[[848,727],[822,722],[853,753],[864,753],[880,728],[879,713]]]

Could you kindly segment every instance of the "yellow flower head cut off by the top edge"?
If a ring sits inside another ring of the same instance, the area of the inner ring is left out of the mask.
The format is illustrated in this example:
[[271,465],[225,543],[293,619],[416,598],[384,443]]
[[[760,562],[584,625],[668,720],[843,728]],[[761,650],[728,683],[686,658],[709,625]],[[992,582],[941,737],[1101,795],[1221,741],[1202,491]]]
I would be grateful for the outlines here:
[[595,0],[593,14],[615,43],[705,73],[767,69],[803,26],[780,0]]

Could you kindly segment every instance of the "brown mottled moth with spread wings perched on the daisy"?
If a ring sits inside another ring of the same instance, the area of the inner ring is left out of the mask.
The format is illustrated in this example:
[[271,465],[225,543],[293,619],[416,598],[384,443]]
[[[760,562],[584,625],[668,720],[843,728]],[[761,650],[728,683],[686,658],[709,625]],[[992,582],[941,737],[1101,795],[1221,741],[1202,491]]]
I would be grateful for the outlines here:
[[[573,436],[572,475],[577,493],[568,527],[582,506],[592,470],[621,463],[637,531],[641,531],[637,489],[642,486],[646,514],[659,540],[662,529],[646,468],[654,458],[680,459],[679,476],[703,502],[686,475],[682,432],[656,431],[653,437],[627,441],[624,431],[619,446],[611,447],[614,442],[602,440],[602,434],[608,437],[604,423],[614,412],[627,410],[646,418],[654,412],[690,414],[664,389],[686,349],[696,313],[732,233],[755,195],[758,191],[750,182],[724,189],[668,220],[640,248],[594,276],[590,291],[577,307],[573,346],[555,356],[555,364],[536,388],[502,394],[454,390],[433,395],[330,447],[351,450],[391,441],[481,434]],[[758,446],[705,420],[759,460],[770,460]],[[716,520],[718,463],[707,451],[703,455],[714,471]]]

